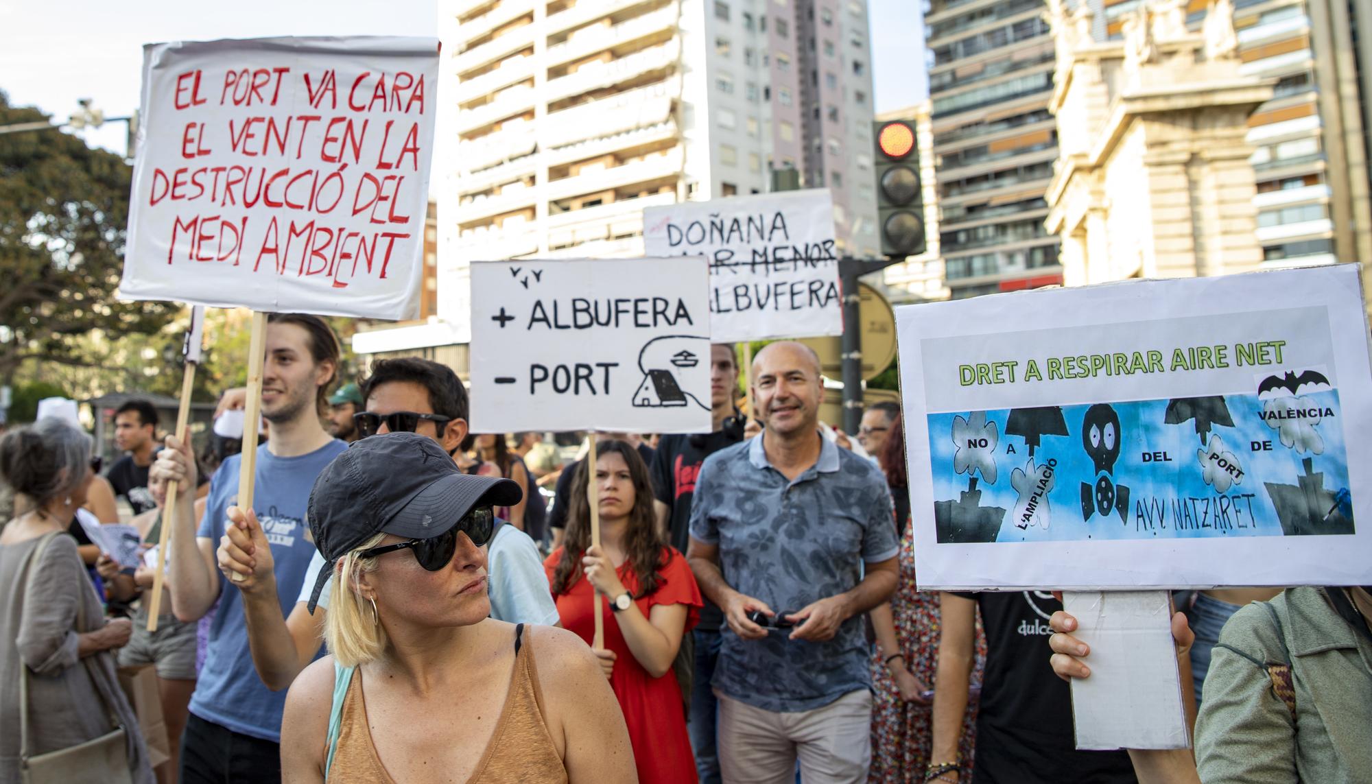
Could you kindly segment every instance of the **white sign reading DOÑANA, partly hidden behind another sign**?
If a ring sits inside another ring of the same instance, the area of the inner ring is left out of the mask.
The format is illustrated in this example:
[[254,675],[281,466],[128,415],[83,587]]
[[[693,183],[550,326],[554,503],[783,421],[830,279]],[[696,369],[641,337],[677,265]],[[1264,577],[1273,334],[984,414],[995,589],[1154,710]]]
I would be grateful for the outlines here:
[[844,332],[829,191],[649,207],[643,247],[649,256],[709,259],[716,343]]

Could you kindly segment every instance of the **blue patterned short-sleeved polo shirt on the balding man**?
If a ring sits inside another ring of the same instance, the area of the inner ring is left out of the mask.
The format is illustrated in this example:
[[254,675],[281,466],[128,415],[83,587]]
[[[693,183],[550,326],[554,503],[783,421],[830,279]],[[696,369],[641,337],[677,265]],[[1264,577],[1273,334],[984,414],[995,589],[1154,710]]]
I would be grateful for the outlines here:
[[[724,580],[778,614],[796,613],[862,581],[863,562],[896,556],[895,511],[881,470],[820,439],[819,459],[794,480],[771,466],[763,437],[705,459],[696,480],[690,535],[719,546]],[[713,687],[781,713],[823,707],[870,688],[862,618],[833,640],[790,640],[770,629],[744,640],[726,625]]]

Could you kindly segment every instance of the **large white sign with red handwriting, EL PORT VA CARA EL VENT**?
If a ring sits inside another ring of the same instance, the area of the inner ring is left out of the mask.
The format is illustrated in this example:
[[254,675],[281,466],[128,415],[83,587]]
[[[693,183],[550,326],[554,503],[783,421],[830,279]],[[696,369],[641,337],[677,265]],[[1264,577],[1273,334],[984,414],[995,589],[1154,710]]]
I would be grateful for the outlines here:
[[413,314],[438,41],[150,44],[119,296]]

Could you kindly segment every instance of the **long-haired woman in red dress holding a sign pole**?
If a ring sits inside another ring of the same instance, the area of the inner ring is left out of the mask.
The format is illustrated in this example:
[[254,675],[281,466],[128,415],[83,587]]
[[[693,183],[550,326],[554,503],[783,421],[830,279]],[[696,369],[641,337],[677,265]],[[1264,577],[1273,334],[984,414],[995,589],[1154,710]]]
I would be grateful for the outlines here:
[[[567,537],[543,567],[563,626],[591,643],[594,591],[605,617],[605,650],[595,651],[628,724],[638,780],[694,784],[696,761],[686,735],[682,692],[672,662],[696,625],[700,588],[686,558],[657,532],[653,488],[638,451],[602,441],[595,462],[601,546],[590,547],[586,492],[568,502]],[[572,487],[586,487],[586,465]]]

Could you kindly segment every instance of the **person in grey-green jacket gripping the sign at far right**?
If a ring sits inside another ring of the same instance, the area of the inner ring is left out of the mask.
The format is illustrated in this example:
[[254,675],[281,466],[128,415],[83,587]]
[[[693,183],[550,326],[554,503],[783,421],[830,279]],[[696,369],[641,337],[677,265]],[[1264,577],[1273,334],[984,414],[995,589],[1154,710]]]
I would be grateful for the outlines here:
[[[1091,677],[1077,620],[1055,613],[1052,669]],[[1179,659],[1195,640],[1172,618]],[[1229,620],[1190,750],[1129,755],[1144,784],[1365,781],[1372,772],[1372,587],[1287,588]]]

